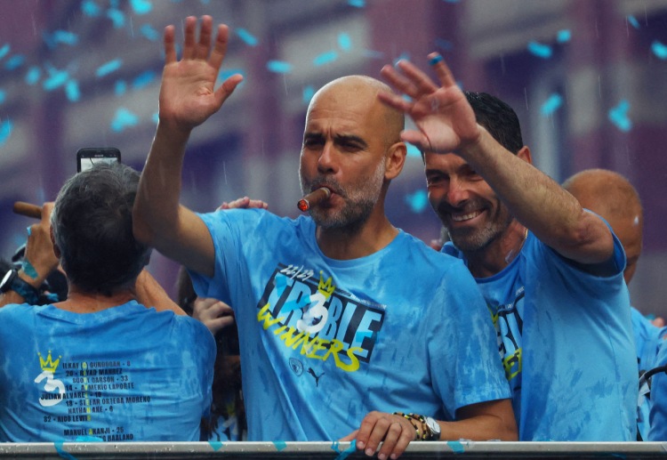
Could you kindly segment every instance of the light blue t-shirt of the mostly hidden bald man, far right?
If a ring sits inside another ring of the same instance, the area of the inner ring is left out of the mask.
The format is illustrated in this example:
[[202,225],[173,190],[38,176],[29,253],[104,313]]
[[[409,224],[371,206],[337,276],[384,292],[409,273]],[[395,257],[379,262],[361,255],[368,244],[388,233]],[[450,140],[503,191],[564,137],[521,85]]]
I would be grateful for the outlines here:
[[[667,335],[667,327],[656,327],[641,314],[636,308],[631,309],[632,333],[635,337],[637,347],[637,366],[639,374],[651,370],[657,366],[657,354],[663,337]],[[648,414],[651,408],[651,400],[646,397],[649,391],[648,385],[639,388],[639,401],[637,403],[637,429],[642,440],[648,438]]]

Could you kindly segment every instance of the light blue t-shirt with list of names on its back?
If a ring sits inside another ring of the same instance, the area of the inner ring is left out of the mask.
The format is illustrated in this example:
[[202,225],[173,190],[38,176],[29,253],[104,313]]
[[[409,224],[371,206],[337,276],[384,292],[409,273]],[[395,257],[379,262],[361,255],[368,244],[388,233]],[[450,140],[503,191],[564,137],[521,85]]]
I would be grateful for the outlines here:
[[0,441],[198,441],[213,335],[134,301],[0,308]]

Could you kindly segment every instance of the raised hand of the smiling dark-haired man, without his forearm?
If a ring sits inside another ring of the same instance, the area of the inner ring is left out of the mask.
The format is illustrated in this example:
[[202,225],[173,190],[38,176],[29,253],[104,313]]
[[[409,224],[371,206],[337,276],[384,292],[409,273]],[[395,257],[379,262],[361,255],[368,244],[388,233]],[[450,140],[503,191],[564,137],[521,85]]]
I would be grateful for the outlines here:
[[429,54],[429,60],[438,75],[438,87],[422,70],[409,61],[398,61],[397,69],[384,66],[381,75],[399,93],[381,92],[378,98],[406,113],[414,121],[417,130],[401,133],[403,141],[414,144],[422,151],[451,153],[479,140],[480,130],[475,113],[454,81],[451,70],[437,53]]

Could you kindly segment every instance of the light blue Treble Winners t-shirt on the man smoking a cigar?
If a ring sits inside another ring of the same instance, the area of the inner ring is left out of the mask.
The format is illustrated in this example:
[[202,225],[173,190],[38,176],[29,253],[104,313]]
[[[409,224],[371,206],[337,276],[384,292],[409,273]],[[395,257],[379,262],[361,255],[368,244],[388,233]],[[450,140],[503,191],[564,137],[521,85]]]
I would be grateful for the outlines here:
[[461,261],[403,231],[354,260],[322,254],[309,217],[201,215],[215,275],[197,295],[233,306],[248,440],[338,440],[373,410],[453,420],[510,397],[488,311]]

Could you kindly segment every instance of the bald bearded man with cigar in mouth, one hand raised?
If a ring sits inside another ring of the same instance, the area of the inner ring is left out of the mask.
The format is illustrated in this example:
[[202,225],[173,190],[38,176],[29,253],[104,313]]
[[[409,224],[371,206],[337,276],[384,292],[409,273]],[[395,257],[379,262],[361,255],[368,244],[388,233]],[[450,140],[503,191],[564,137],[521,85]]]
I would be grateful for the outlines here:
[[[159,124],[134,233],[185,265],[197,295],[234,306],[249,440],[357,440],[395,458],[411,440],[515,440],[510,391],[486,305],[462,262],[384,213],[401,172],[403,116],[370,77],[334,80],[310,102],[303,193],[328,198],[291,220],[263,209],[195,214],[179,205],[189,133],[241,76],[213,85],[228,29],[186,20],[177,61],[165,29]],[[197,42],[197,43],[196,43]],[[439,421],[439,422],[438,422]]]

